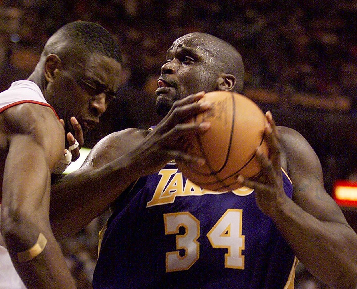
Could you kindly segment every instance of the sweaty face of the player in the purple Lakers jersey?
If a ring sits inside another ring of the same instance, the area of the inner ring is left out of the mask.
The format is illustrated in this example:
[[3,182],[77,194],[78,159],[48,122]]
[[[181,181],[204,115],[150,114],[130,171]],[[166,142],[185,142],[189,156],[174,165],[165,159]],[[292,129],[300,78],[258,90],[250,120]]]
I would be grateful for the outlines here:
[[177,39],[167,50],[156,89],[156,109],[165,116],[172,104],[202,90],[217,88],[219,70],[207,43],[192,35]]

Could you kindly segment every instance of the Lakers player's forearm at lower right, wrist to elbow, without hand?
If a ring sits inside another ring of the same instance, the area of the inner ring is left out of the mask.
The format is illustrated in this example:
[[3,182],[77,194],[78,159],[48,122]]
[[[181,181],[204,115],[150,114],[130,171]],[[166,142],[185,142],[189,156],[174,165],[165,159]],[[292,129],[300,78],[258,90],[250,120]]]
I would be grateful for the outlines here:
[[284,200],[271,217],[313,275],[334,288],[355,288],[357,236],[351,227],[321,221],[290,199]]

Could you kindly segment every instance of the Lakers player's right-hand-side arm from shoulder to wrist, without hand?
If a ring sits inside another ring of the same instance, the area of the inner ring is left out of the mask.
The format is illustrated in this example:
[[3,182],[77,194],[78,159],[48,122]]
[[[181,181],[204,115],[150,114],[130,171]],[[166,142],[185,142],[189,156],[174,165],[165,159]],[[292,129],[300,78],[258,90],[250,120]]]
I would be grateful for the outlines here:
[[320,161],[296,131],[280,128],[293,199],[272,215],[297,258],[335,288],[355,288],[357,236],[323,186]]

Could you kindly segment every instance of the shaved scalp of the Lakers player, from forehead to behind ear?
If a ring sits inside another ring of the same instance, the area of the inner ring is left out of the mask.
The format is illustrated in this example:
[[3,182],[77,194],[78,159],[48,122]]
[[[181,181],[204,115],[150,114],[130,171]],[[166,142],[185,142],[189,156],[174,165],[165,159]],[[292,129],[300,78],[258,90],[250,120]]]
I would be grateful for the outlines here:
[[172,46],[187,45],[205,51],[222,73],[232,74],[236,78],[233,91],[242,92],[244,65],[240,53],[231,44],[213,35],[193,32],[186,34],[172,44]]

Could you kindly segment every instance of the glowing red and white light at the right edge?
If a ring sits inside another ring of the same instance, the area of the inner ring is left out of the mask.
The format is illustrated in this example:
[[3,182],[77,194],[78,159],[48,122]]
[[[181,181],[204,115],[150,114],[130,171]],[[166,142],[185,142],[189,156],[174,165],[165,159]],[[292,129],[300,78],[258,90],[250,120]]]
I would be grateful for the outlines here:
[[357,207],[357,182],[337,180],[333,186],[332,197],[339,206]]

